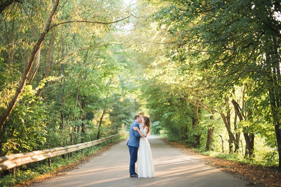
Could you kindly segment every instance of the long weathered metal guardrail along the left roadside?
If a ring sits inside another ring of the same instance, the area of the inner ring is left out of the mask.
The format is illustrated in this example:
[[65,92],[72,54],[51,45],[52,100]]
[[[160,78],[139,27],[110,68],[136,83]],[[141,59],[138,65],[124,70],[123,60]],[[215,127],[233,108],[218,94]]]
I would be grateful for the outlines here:
[[52,149],[45,149],[39,151],[32,151],[28,153],[18,153],[14,155],[7,155],[0,157],[0,171],[14,168],[20,165],[29,164],[32,162],[42,161],[44,159],[49,159],[49,165],[51,165],[51,158],[54,156],[60,156],[68,153],[68,158],[70,153],[73,151],[78,151],[103,143],[104,141],[112,140],[113,138],[119,137],[122,134],[115,134],[109,137],[101,138],[94,141],[88,141],[84,143],[79,143],[76,145],[56,147]]

